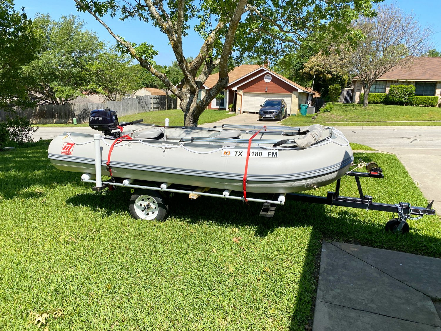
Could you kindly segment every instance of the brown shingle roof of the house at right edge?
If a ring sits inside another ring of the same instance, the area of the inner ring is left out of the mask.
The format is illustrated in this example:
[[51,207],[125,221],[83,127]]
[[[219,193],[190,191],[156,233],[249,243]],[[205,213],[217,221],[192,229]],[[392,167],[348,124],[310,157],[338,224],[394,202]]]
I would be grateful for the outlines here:
[[379,79],[441,81],[441,57],[416,57],[406,68],[394,68]]

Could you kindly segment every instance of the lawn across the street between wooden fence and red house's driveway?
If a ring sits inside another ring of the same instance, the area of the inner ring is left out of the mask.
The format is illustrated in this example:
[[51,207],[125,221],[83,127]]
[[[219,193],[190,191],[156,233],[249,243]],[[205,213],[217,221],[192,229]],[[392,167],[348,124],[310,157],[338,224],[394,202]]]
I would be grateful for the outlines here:
[[[231,116],[235,116],[235,114],[229,114],[225,110],[214,110],[207,109],[202,113],[199,117],[198,124],[212,123],[218,120],[223,120],[224,118],[228,118]],[[169,110],[158,110],[155,112],[147,112],[147,113],[138,113],[133,115],[126,115],[118,117],[118,120],[121,122],[131,122],[134,120],[143,119],[144,123],[149,124],[158,124],[164,125],[165,118],[170,119],[170,125],[183,125],[184,124],[184,115],[182,110],[180,109],[169,109]],[[88,123],[82,124],[36,124],[39,127],[71,127],[71,126],[89,126]]]

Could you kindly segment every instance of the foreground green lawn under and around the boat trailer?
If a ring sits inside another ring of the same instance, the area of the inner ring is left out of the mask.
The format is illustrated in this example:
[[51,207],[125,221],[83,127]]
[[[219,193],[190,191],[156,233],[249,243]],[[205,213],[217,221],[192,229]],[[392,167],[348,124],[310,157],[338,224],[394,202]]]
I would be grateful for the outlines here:
[[[259,218],[258,203],[176,195],[166,221],[134,220],[129,192],[92,192],[47,147],[0,153],[0,330],[42,330],[34,313],[49,313],[51,331],[303,331],[322,240],[441,257],[437,216],[399,235],[384,231],[389,213],[288,201]],[[374,201],[426,205],[394,155],[358,158],[384,169],[360,179]],[[341,194],[358,196],[354,178]]]

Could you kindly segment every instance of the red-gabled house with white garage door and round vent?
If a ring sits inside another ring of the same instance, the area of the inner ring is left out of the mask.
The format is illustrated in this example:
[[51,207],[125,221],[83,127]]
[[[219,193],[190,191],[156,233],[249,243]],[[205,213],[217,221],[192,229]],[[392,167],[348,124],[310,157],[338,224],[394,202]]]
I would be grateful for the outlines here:
[[[223,99],[213,99],[208,109],[227,109],[233,104],[236,113],[258,113],[266,99],[283,98],[288,114],[296,114],[300,104],[310,103],[314,95],[310,89],[278,75],[257,64],[243,64],[228,74],[228,86],[221,92]],[[210,75],[198,93],[198,101],[217,83],[219,73]]]

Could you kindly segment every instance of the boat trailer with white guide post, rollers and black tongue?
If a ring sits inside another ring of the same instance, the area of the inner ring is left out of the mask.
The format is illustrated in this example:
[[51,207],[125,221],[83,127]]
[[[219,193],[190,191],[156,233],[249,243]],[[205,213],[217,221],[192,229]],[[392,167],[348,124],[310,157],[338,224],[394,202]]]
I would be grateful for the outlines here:
[[[98,134],[99,136],[99,134]],[[99,140],[95,140],[99,144]],[[164,200],[164,193],[182,193],[188,194],[190,199],[197,199],[199,196],[209,196],[215,198],[233,199],[263,203],[260,216],[273,217],[276,207],[284,205],[286,200],[318,203],[330,206],[351,207],[373,211],[386,211],[396,213],[398,216],[392,218],[385,225],[385,230],[392,233],[407,233],[409,232],[409,225],[407,219],[418,219],[424,215],[434,215],[435,211],[432,209],[434,201],[430,202],[427,207],[414,207],[410,203],[377,203],[373,201],[372,196],[363,194],[363,189],[360,183],[360,177],[369,178],[384,178],[382,169],[374,162],[365,163],[361,161],[358,165],[365,165],[368,172],[349,171],[346,176],[355,178],[359,197],[340,196],[340,179],[336,181],[336,189],[334,192],[328,191],[326,196],[314,196],[301,193],[282,193],[272,194],[268,199],[248,197],[232,194],[231,190],[217,190],[211,188],[188,187],[173,183],[156,183],[156,182],[139,182],[132,179],[114,179],[112,181],[102,181],[101,179],[101,155],[99,153],[99,145],[96,149],[95,170],[96,180],[93,180],[95,175],[84,173],[81,176],[81,181],[84,183],[93,183],[92,188],[95,192],[100,192],[105,188],[114,190],[117,187],[125,187],[131,189],[131,200],[129,210],[134,218],[145,220],[161,221],[168,216],[168,206]],[[212,192],[210,192],[212,191]],[[416,217],[412,217],[416,216]]]

